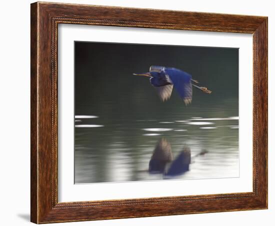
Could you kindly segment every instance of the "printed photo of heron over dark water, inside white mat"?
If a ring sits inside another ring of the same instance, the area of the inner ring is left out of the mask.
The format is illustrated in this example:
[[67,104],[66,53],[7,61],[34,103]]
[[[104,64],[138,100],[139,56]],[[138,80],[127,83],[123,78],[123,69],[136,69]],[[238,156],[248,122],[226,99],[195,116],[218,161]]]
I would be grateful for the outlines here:
[[238,176],[238,48],[74,42],[74,183]]

